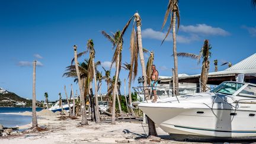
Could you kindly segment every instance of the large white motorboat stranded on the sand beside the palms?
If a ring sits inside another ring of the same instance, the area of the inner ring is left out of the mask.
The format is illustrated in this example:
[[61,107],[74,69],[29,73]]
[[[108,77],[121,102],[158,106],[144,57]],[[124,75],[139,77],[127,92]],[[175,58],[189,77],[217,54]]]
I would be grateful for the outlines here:
[[222,82],[209,92],[137,104],[174,139],[255,139],[256,85]]

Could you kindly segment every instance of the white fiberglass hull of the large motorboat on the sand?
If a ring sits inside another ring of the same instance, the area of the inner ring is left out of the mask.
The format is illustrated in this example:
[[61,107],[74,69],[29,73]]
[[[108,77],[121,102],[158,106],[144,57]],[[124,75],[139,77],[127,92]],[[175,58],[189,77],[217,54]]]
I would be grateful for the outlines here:
[[256,136],[256,111],[252,111],[252,107],[252,110],[232,110],[218,108],[219,105],[215,104],[211,109],[206,104],[193,103],[140,103],[138,106],[169,134],[231,138]]

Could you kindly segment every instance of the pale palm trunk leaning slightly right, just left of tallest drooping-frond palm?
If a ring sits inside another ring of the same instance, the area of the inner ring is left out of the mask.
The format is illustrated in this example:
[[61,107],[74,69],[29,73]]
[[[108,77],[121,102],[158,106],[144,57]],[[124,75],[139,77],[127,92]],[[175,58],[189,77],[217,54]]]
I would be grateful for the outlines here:
[[117,62],[116,62],[116,79],[114,82],[114,90],[113,90],[113,103],[112,103],[112,116],[111,116],[111,123],[116,124],[116,89],[117,89],[117,81],[119,78],[119,65],[120,65],[120,46],[118,47],[117,52]]

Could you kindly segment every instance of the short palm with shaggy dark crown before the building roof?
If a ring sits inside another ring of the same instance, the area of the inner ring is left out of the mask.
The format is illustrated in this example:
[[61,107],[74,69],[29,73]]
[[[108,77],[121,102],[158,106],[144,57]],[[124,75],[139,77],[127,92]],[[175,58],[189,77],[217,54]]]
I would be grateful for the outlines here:
[[210,68],[210,61],[209,58],[211,56],[210,49],[212,47],[209,44],[209,40],[204,40],[203,47],[200,50],[199,55],[195,55],[193,53],[177,53],[177,56],[181,57],[190,57],[192,59],[197,59],[198,63],[200,63],[201,58],[203,59],[202,63],[202,68],[201,68],[201,91],[205,92],[206,91],[206,84],[208,81],[208,73],[209,73],[209,68]]

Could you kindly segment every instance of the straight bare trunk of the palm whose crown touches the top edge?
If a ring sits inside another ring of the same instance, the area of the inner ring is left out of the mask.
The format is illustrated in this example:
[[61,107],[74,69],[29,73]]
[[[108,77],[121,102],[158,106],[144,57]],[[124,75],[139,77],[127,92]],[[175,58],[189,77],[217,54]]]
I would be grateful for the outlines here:
[[172,39],[173,39],[173,55],[174,55],[174,82],[175,82],[175,94],[179,94],[178,90],[178,57],[176,47],[176,12],[173,12],[173,23],[172,23]]

